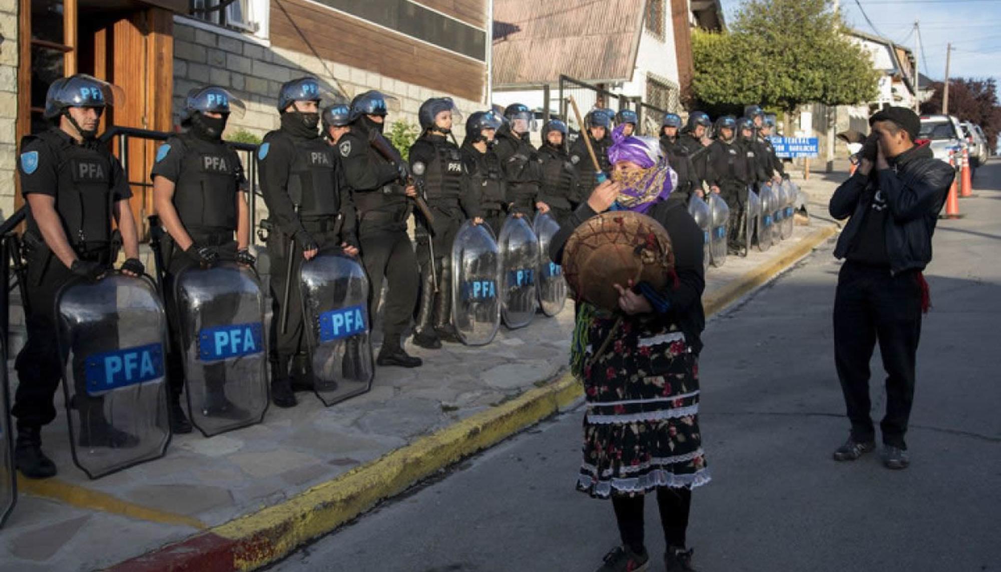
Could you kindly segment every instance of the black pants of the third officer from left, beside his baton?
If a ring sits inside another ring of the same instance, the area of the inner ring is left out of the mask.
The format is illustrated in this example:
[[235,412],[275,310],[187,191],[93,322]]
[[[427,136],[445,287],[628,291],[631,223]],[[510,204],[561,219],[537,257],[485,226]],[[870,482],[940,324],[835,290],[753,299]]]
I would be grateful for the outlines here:
[[[306,229],[309,230],[308,228]],[[309,236],[319,246],[320,251],[339,250],[340,233],[335,231],[309,232]],[[297,353],[305,353],[308,340],[302,321],[302,291],[299,288],[299,269],[302,268],[302,248],[294,244],[289,257],[291,240],[285,234],[274,231],[267,239],[267,253],[271,261],[271,327],[268,332],[272,364],[283,367]],[[291,283],[286,280],[291,265]],[[284,302],[285,287],[288,284],[288,317],[285,331],[281,331],[281,305]],[[272,365],[273,367],[273,365]],[[272,376],[275,375],[272,372]],[[279,374],[280,375],[280,374]]]

